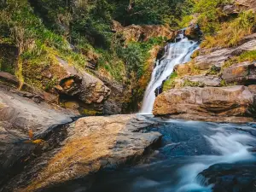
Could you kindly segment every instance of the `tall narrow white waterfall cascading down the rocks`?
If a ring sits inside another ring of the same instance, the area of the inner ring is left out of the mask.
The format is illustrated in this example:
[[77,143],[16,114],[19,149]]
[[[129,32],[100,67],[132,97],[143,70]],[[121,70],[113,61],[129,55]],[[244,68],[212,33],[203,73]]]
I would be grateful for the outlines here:
[[198,47],[197,42],[184,37],[183,32],[176,39],[180,39],[180,41],[166,45],[165,55],[160,61],[156,61],[156,67],[154,67],[150,83],[144,95],[141,113],[152,113],[155,100],[154,90],[160,87],[163,81],[172,74],[174,66],[188,62],[190,56]]

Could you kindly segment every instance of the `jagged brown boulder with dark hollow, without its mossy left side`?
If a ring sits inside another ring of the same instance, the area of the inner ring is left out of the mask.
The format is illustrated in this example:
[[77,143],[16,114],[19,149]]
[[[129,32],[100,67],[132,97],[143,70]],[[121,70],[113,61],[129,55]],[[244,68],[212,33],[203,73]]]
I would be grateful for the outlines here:
[[77,102],[78,104],[75,106],[82,108],[82,113],[83,108],[102,112],[103,103],[110,95],[109,88],[100,79],[96,79],[89,73],[79,72],[60,58],[58,60],[61,70],[64,71],[59,79],[59,84],[55,86],[63,98],[61,102]]

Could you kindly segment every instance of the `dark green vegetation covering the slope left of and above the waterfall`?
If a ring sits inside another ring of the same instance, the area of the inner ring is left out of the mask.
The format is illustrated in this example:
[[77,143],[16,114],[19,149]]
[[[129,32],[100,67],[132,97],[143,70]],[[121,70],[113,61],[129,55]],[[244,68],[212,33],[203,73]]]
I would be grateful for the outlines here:
[[2,1],[0,44],[15,47],[18,56],[15,65],[6,65],[2,59],[1,70],[15,73],[21,83],[25,80],[39,85],[32,82],[34,79],[26,71],[35,68],[32,65],[38,67],[39,73],[48,62],[56,64],[55,57],[60,57],[84,69],[86,61],[91,60],[90,53],[95,53],[97,69],[105,70],[113,79],[123,82],[131,72],[140,78],[148,50],[163,39],[152,38],[143,44],[131,42],[124,46],[122,38],[116,38],[112,32],[113,20],[124,26],[178,26],[183,16],[192,13],[193,5],[193,0]]

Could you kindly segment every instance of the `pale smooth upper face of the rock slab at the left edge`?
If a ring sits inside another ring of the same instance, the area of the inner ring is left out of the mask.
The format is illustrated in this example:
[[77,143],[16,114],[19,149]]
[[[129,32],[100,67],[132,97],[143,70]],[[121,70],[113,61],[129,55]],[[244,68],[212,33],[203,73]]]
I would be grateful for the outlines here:
[[5,89],[0,86],[0,125],[3,128],[24,134],[28,130],[45,131],[51,125],[71,122],[71,116],[75,116],[72,111],[38,103],[31,93]]

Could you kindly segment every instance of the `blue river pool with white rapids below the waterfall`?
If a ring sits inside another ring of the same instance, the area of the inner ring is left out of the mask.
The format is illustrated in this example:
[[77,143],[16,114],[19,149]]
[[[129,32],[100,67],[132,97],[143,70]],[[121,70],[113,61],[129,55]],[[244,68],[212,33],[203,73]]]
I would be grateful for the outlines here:
[[[160,148],[138,166],[99,173],[90,192],[210,192],[214,185],[200,175],[209,166],[241,162],[254,165],[256,162],[250,152],[256,147],[256,128],[253,125],[155,120],[163,123],[152,128],[163,134]],[[222,173],[221,167],[218,172]],[[229,172],[224,177],[232,182],[237,176]],[[237,187],[236,182],[230,192],[255,191],[242,188],[253,178],[242,174],[238,177],[243,183],[238,183]]]

